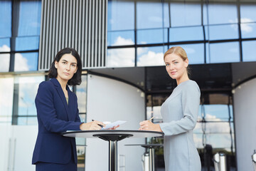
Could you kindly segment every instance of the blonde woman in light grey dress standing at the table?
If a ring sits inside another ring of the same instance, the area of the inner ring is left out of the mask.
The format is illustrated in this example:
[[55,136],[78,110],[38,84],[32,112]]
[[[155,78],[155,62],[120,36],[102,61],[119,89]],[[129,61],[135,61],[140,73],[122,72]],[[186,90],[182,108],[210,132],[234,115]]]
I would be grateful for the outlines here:
[[200,89],[188,78],[188,57],[183,48],[176,46],[164,53],[169,76],[176,79],[177,87],[161,105],[163,123],[149,120],[139,123],[139,130],[164,133],[164,161],[168,171],[199,171],[201,160],[193,142],[200,104]]

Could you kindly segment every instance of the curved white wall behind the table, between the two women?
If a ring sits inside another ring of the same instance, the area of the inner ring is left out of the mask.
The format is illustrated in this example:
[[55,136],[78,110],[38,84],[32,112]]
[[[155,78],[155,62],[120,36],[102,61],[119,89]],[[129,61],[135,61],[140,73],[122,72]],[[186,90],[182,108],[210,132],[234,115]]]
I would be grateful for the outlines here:
[[[87,122],[90,120],[127,120],[119,130],[138,130],[144,120],[142,92],[133,86],[109,78],[88,75]],[[144,143],[144,138],[127,138],[118,142],[118,155],[124,155],[125,170],[142,170],[143,147],[127,144]],[[98,138],[86,140],[85,170],[108,170],[108,142]],[[121,164],[122,165],[122,164]]]

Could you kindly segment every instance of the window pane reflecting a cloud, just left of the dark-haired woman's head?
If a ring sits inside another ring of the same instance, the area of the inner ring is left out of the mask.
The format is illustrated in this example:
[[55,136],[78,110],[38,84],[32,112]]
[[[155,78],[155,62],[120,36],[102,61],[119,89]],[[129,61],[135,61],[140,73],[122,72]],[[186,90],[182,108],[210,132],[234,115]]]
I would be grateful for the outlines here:
[[37,71],[38,53],[16,53],[14,71]]

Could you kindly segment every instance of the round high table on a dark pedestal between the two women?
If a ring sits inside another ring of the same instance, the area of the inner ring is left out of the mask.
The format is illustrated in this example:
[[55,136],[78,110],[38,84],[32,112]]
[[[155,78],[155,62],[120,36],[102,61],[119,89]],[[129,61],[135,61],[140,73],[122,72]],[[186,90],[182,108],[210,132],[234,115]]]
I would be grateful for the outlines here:
[[117,142],[124,138],[160,137],[164,133],[148,130],[75,130],[61,133],[72,138],[100,138],[109,142],[109,171],[117,171]]

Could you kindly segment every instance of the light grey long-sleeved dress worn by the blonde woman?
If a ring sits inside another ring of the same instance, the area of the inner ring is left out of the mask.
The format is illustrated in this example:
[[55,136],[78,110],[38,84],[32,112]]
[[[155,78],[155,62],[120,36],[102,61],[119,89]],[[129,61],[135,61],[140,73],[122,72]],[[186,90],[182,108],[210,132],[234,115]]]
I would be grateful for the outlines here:
[[184,81],[161,106],[166,171],[199,171],[201,161],[193,142],[200,104],[200,89],[195,81]]

